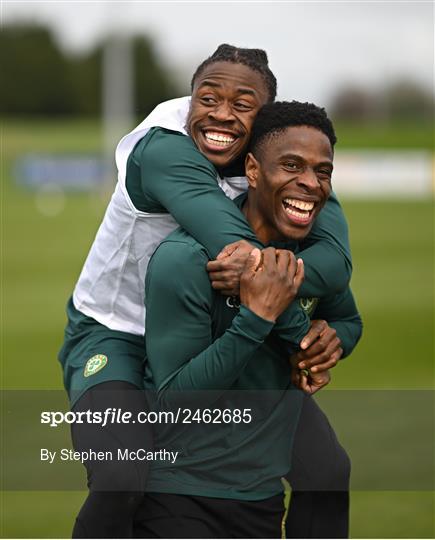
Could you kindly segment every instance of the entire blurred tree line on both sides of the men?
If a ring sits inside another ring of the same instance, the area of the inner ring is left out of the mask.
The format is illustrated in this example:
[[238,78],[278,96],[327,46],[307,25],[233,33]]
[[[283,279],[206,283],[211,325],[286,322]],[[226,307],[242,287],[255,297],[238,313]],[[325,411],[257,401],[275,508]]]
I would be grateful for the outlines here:
[[[65,53],[50,30],[3,26],[0,33],[0,113],[8,116],[97,116],[102,109],[106,42],[82,54]],[[166,99],[184,94],[157,59],[148,37],[131,38],[135,113],[143,117]],[[340,89],[328,111],[334,120],[432,122],[433,96],[411,80],[376,90]]]

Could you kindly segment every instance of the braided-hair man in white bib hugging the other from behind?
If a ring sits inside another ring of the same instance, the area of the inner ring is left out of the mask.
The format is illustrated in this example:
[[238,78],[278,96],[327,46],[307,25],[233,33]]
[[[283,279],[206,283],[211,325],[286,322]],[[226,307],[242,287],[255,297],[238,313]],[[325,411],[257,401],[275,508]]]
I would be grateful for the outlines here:
[[[118,403],[134,413],[146,409],[144,394],[131,391],[143,388],[143,282],[151,254],[177,223],[206,247],[210,259],[241,239],[262,247],[230,199],[246,189],[240,156],[246,152],[255,115],[275,99],[276,80],[267,56],[222,45],[201,64],[192,84],[191,100],[160,105],[118,145],[118,183],[69,301],[59,354],[74,410]],[[315,269],[310,261],[325,250],[331,254],[328,265]],[[247,251],[249,246],[237,244],[221,260],[223,268],[240,268]],[[328,287],[329,292],[346,287],[351,268],[347,229],[334,197],[303,256],[304,296],[321,297]],[[228,291],[225,271],[215,274],[215,286],[224,283]],[[289,336],[298,346],[308,332],[308,319],[298,307],[290,315]],[[310,332],[312,341],[319,332]],[[338,360],[340,350],[335,347],[331,361]],[[111,392],[102,391],[106,389]],[[74,425],[72,435],[77,450],[152,445],[144,425],[104,430]],[[145,487],[146,465],[86,466],[90,493],[74,536],[128,537]]]

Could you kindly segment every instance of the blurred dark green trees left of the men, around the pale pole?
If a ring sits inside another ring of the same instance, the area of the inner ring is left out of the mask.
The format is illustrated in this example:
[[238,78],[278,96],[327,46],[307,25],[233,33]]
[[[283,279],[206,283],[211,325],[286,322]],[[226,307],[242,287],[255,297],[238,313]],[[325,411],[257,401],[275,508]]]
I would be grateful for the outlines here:
[[[102,108],[105,42],[67,54],[42,26],[3,26],[0,33],[0,113],[8,116],[96,116]],[[134,104],[141,116],[179,88],[158,61],[151,40],[131,38]]]

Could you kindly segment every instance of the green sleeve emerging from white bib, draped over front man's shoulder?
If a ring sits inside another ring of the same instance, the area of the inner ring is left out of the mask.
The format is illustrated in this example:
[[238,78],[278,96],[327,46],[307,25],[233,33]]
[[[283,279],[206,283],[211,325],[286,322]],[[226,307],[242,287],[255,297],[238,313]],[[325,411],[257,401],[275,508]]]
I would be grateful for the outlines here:
[[155,130],[137,158],[145,197],[160,203],[206,248],[210,259],[241,238],[263,247],[242,212],[219,187],[216,169],[190,137]]

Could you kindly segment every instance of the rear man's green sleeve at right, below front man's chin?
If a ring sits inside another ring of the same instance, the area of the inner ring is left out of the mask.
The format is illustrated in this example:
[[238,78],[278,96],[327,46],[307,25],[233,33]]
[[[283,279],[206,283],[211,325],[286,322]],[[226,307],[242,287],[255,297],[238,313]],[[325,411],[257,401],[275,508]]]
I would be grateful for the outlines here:
[[334,193],[300,245],[305,265],[305,280],[299,291],[302,298],[324,298],[342,292],[349,284],[352,259],[343,210]]

